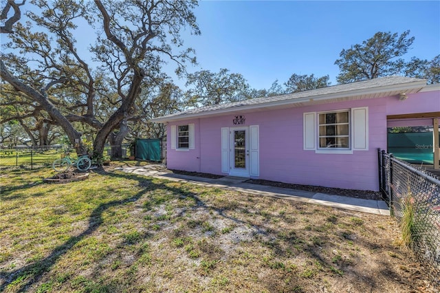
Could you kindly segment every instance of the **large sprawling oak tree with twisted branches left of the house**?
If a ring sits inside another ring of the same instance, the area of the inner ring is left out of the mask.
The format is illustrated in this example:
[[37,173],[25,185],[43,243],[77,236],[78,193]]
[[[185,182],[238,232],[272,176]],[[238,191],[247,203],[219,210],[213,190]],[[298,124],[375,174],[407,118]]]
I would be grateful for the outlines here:
[[[25,4],[28,21],[21,23],[23,5],[8,1],[2,10],[1,33],[10,42],[1,54],[1,78],[62,127],[78,154],[87,151],[79,124],[95,130],[99,157],[109,136],[126,133],[142,87],[164,77],[166,61],[175,61],[178,73],[195,63],[193,50],[182,49],[180,31],[199,34],[197,1],[34,0]],[[91,41],[87,50],[76,42],[84,38]]]

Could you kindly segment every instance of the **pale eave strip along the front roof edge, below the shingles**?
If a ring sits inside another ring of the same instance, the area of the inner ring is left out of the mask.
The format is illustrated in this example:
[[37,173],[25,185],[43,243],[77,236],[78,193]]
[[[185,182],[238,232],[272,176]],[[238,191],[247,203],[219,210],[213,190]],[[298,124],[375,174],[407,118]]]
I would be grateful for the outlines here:
[[237,107],[230,107],[225,109],[217,109],[212,111],[206,111],[206,112],[199,112],[199,113],[182,113],[181,115],[176,116],[163,116],[163,117],[157,117],[153,118],[150,121],[151,122],[172,122],[172,121],[178,121],[178,120],[187,120],[192,118],[201,118],[205,116],[212,116],[212,115],[220,115],[223,113],[230,113],[232,111],[236,111],[237,109],[240,109],[241,111],[247,111],[252,109],[260,109],[260,108],[272,108],[272,107],[279,107],[283,105],[292,105],[297,104],[301,102],[312,102],[312,101],[324,101],[324,100],[332,100],[332,99],[340,99],[340,98],[350,98],[353,96],[365,96],[365,95],[371,95],[371,94],[380,94],[381,92],[390,92],[390,91],[399,91],[401,93],[405,93],[408,90],[414,90],[417,89],[417,91],[420,91],[423,89],[423,87],[426,87],[426,80],[417,80],[410,83],[401,83],[398,85],[386,85],[382,87],[373,87],[369,89],[355,89],[351,91],[342,91],[338,93],[332,93],[332,94],[322,94],[322,95],[312,95],[312,96],[305,96],[301,98],[287,98],[286,100],[278,100],[278,101],[272,101],[272,102],[264,102],[260,104],[254,104],[254,105],[241,105]]

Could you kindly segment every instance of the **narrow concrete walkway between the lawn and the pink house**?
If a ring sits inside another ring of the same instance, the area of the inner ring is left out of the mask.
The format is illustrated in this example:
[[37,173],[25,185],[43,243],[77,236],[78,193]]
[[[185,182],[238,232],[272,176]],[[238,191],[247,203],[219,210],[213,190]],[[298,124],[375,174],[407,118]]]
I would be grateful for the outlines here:
[[172,173],[163,165],[133,166],[120,168],[119,170],[126,173],[134,173],[136,175],[156,177],[176,182],[189,182],[191,184],[223,188],[241,193],[289,199],[297,202],[307,202],[309,204],[320,204],[322,206],[332,206],[333,208],[355,210],[376,215],[390,215],[390,210],[386,205],[386,202],[382,200],[359,199],[355,197],[344,197],[340,195],[328,195],[311,191],[299,191],[296,189],[250,184],[244,182],[245,180],[248,180],[248,178],[243,177],[226,176],[219,179],[211,179],[181,175]]

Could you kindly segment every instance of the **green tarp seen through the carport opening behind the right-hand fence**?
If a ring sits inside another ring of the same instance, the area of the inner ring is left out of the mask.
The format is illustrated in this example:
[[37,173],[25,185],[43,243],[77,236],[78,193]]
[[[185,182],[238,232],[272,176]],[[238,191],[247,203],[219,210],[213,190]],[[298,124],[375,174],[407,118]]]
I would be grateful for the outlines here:
[[415,164],[433,164],[432,132],[388,133],[388,153]]

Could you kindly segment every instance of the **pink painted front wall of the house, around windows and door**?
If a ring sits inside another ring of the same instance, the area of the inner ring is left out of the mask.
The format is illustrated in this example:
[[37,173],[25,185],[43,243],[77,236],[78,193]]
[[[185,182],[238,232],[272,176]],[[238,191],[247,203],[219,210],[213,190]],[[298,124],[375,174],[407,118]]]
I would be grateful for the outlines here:
[[[303,113],[353,107],[369,107],[369,151],[324,154],[303,150]],[[170,122],[168,133],[170,125],[195,124],[195,149],[177,151],[168,144],[167,166],[222,174],[221,127],[234,127],[234,116],[244,114],[246,126],[259,125],[260,179],[377,191],[377,148],[386,149],[386,116],[417,111],[440,111],[439,92],[409,95],[404,101],[392,96]]]

